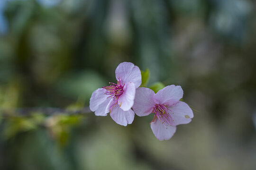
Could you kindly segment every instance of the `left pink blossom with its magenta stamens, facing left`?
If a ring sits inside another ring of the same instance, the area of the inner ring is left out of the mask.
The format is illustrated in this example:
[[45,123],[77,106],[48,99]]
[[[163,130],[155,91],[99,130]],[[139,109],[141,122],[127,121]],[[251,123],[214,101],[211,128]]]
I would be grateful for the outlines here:
[[91,94],[90,109],[96,116],[107,116],[119,125],[127,126],[134,119],[131,107],[134,103],[136,89],[141,84],[141,73],[133,63],[120,63],[116,69],[117,83],[99,88]]

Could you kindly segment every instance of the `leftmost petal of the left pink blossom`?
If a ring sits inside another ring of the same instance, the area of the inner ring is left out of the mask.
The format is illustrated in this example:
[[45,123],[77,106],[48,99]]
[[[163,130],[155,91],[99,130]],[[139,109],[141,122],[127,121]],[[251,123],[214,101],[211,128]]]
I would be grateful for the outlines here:
[[107,100],[108,95],[104,94],[106,92],[107,92],[106,89],[99,88],[91,94],[91,99],[90,99],[91,111],[97,110],[99,106]]

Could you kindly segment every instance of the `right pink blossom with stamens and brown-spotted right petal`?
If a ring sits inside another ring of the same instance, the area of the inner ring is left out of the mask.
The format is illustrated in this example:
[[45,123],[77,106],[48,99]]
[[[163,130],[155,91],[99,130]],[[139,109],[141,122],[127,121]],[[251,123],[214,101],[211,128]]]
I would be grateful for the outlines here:
[[187,124],[193,118],[191,108],[179,101],[183,97],[181,86],[168,85],[156,94],[149,88],[136,90],[133,110],[138,116],[154,113],[150,123],[155,137],[162,141],[170,139],[179,124]]

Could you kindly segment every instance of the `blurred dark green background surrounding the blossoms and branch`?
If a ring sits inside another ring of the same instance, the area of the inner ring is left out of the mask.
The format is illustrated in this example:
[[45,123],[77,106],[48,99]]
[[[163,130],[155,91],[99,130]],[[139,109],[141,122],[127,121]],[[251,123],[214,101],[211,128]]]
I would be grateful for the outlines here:
[[0,170],[256,170],[256,1],[0,0],[0,109],[87,107],[120,62],[181,85],[194,118],[5,117]]

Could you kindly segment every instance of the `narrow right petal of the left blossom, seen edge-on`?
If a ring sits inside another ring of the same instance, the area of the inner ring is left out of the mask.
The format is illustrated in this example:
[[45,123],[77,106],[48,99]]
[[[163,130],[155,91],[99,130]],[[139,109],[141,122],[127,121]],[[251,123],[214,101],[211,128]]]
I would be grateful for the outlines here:
[[135,92],[136,89],[133,83],[124,85],[124,92],[118,100],[118,104],[122,110],[127,111],[131,109],[135,98]]

